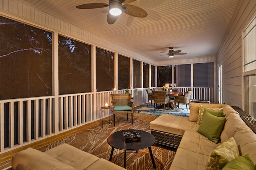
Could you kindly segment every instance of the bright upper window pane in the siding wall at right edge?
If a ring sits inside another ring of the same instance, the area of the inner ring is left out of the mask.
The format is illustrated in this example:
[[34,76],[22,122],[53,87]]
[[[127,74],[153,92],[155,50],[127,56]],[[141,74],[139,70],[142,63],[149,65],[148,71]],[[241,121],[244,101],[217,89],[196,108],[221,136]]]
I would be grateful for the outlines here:
[[256,69],[256,18],[244,30],[244,72]]

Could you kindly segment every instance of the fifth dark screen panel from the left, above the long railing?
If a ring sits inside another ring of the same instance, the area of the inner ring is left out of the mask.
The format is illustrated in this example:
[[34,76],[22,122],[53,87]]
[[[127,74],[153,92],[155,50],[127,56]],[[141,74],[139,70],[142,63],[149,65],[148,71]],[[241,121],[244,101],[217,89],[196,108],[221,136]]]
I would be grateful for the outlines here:
[[141,88],[140,61],[132,60],[133,88]]

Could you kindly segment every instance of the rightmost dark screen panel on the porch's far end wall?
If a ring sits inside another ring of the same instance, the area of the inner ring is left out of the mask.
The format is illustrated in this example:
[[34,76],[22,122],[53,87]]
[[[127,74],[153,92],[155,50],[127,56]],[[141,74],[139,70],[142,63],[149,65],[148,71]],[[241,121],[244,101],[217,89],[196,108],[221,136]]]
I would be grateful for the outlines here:
[[194,87],[213,88],[213,63],[193,64]]

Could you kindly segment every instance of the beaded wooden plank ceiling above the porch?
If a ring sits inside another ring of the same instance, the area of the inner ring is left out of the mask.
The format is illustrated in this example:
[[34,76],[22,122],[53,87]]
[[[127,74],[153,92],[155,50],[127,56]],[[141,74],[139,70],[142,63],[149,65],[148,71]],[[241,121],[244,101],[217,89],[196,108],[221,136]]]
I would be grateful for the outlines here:
[[[156,62],[215,56],[238,4],[238,0],[136,0],[130,4],[144,9],[146,18],[123,13],[109,25],[108,7],[76,8],[87,3],[108,4],[108,0],[16,1]],[[187,54],[168,58],[160,53],[168,53],[168,47]]]

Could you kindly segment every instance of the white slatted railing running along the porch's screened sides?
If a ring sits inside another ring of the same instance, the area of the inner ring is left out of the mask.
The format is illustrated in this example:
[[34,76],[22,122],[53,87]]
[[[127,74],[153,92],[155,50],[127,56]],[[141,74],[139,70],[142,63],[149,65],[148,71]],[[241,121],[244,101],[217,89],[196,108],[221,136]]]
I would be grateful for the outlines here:
[[[129,89],[134,107],[148,102],[146,89]],[[1,100],[0,154],[100,119],[100,107],[110,104],[112,93],[125,90]],[[213,94],[213,88],[193,88],[192,98],[214,102]]]

